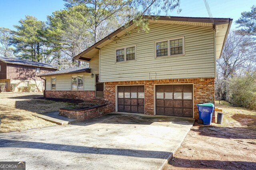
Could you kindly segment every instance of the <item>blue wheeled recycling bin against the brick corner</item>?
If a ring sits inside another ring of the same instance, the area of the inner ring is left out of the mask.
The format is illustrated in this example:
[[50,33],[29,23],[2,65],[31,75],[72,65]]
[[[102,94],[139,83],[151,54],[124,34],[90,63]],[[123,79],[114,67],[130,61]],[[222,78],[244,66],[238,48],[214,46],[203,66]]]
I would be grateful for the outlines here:
[[199,112],[199,120],[203,121],[204,125],[211,125],[212,123],[212,112],[214,111],[214,104],[205,103],[197,104]]

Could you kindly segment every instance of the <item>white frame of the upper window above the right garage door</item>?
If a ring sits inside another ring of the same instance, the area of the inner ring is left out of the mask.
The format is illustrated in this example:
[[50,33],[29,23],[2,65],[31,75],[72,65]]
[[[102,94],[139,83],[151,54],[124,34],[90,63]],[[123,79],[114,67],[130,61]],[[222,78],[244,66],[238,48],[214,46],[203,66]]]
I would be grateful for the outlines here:
[[[174,55],[171,55],[171,45],[170,45],[170,41],[172,40],[176,40],[176,39],[182,39],[182,54],[174,54]],[[168,55],[165,55],[165,56],[156,56],[157,53],[157,49],[156,49],[156,43],[161,43],[161,42],[164,42],[164,41],[167,41],[167,45],[168,45]],[[182,55],[185,55],[185,37],[182,36],[182,37],[174,37],[174,38],[171,38],[171,39],[163,39],[163,40],[160,40],[160,41],[155,41],[155,58],[158,59],[158,58],[163,58],[163,57],[174,57],[174,56],[182,56]]]

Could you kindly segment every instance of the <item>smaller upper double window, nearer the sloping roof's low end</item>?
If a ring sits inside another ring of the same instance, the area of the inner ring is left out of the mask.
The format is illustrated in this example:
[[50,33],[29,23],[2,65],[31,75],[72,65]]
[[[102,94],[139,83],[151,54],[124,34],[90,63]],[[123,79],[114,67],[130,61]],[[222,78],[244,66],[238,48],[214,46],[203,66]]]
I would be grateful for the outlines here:
[[136,46],[116,49],[116,62],[136,60]]

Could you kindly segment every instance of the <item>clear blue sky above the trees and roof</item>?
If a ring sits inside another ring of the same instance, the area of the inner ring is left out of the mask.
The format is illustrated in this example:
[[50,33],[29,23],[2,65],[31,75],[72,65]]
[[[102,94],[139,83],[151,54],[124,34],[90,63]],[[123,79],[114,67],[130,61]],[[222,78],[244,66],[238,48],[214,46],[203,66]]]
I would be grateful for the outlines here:
[[[172,16],[208,17],[204,0],[180,0],[182,12],[172,12]],[[0,27],[14,29],[18,21],[31,15],[46,21],[46,16],[64,8],[63,0],[0,0]],[[241,12],[250,11],[256,5],[255,0],[208,0],[212,16],[215,18],[240,18]]]

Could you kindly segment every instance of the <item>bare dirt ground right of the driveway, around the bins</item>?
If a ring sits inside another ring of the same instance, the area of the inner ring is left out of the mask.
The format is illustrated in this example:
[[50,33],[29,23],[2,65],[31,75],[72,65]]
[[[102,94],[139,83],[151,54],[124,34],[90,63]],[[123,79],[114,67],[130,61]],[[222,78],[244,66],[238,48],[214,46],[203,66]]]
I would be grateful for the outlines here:
[[164,170],[255,169],[256,111],[227,102],[216,107],[223,109],[223,124],[204,126],[196,122]]

